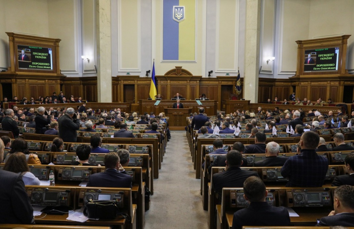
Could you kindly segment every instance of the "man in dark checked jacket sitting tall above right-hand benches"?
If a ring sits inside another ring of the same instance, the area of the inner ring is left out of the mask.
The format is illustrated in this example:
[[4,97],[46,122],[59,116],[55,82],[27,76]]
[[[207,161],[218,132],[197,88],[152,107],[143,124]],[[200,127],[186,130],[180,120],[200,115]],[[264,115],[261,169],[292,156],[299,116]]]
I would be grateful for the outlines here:
[[315,152],[320,136],[306,131],[300,139],[300,155],[287,159],[281,168],[281,175],[288,177],[286,187],[321,187],[328,170],[328,159]]

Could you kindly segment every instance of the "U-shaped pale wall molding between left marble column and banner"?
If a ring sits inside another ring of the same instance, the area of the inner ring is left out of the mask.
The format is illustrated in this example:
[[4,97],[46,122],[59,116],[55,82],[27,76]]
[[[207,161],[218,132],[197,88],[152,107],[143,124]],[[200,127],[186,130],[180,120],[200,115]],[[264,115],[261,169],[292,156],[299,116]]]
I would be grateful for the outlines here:
[[118,3],[118,12],[119,12],[119,21],[118,21],[118,27],[119,27],[119,48],[118,48],[118,72],[141,72],[141,0],[136,0],[137,1],[137,47],[138,47],[138,55],[137,55],[137,67],[135,68],[127,68],[127,67],[122,67],[122,26],[121,23],[124,21],[122,20],[122,0],[119,0]]

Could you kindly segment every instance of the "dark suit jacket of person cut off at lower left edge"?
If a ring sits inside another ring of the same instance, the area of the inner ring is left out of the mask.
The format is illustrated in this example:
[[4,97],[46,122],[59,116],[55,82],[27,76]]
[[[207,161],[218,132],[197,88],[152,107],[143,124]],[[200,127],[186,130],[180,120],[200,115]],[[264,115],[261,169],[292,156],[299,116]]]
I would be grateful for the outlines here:
[[34,224],[33,208],[22,176],[0,170],[0,223]]

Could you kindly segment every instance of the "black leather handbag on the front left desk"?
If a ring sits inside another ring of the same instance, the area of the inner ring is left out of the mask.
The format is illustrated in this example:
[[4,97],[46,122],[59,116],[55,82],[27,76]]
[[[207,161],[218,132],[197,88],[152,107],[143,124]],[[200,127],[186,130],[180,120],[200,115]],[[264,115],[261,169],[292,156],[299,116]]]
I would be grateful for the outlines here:
[[90,219],[115,219],[117,215],[130,221],[130,216],[121,213],[114,200],[89,200],[84,209],[84,215]]

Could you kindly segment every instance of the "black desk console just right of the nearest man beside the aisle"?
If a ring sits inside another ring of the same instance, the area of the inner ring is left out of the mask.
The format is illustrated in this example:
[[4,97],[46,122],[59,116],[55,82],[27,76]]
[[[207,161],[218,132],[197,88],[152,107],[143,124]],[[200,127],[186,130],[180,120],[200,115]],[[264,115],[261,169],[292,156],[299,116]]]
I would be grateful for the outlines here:
[[331,206],[331,195],[327,190],[291,189],[287,190],[288,204],[293,207]]

